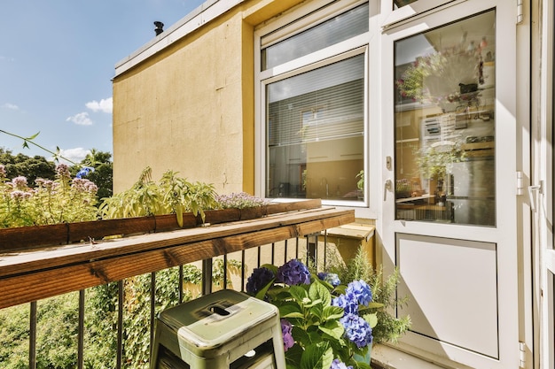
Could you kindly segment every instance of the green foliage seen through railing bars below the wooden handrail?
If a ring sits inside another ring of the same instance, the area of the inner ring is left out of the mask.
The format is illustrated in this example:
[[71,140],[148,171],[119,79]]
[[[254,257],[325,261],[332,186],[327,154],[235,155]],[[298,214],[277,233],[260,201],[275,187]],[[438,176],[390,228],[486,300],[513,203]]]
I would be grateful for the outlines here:
[[[235,273],[240,262],[228,260],[228,272]],[[223,283],[223,260],[213,265],[215,285]],[[184,283],[200,284],[202,271],[184,265]],[[155,314],[179,302],[179,270],[156,273]],[[147,369],[150,358],[151,274],[129,278],[123,283],[124,368]],[[184,291],[184,301],[192,293]],[[78,333],[78,292],[41,300],[37,307],[37,368],[76,367]],[[0,310],[0,363],[2,369],[27,369],[29,304]],[[86,291],[84,367],[113,369],[117,356],[118,283]]]

